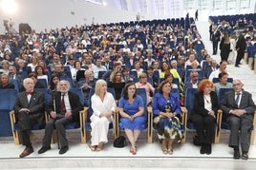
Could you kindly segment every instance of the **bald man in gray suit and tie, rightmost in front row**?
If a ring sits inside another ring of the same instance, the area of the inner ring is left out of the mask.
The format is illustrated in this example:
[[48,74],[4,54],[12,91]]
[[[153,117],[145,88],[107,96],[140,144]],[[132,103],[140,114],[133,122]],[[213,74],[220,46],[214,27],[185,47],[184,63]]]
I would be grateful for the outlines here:
[[229,124],[229,146],[234,148],[234,159],[240,159],[239,142],[242,148],[242,159],[248,159],[250,132],[253,126],[255,104],[251,94],[244,91],[240,80],[233,81],[233,89],[224,95],[221,108]]

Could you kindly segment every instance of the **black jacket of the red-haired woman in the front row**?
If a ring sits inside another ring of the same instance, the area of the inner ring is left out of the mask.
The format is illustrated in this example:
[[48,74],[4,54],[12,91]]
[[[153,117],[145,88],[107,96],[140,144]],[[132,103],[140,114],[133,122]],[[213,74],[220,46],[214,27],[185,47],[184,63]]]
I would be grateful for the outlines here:
[[[210,93],[210,98],[211,98],[212,110],[214,111],[215,115],[217,115],[218,109],[220,109],[217,93],[215,91],[212,91]],[[206,116],[208,114],[208,112],[209,111],[204,108],[203,93],[201,93],[201,92],[196,93],[195,99],[194,99],[194,104],[193,104],[192,114],[201,114],[203,116]]]

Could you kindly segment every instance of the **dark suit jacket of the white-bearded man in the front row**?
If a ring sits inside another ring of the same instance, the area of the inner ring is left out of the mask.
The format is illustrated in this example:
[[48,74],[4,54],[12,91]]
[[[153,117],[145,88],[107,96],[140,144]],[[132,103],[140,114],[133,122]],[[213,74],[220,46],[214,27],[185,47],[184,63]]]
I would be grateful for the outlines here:
[[[82,104],[80,104],[79,101],[79,97],[73,93],[73,92],[68,92],[69,95],[69,101],[70,101],[70,105],[71,105],[71,112],[72,112],[72,118],[73,121],[79,121],[79,111],[82,110]],[[55,106],[53,106],[53,100],[55,100]],[[60,113],[60,106],[61,105],[61,93],[60,91],[55,91],[52,94],[52,99],[51,99],[51,103],[49,105],[47,105],[46,107],[46,111],[48,114],[51,113],[51,111],[54,111],[54,108],[56,109],[55,112],[57,114]]]

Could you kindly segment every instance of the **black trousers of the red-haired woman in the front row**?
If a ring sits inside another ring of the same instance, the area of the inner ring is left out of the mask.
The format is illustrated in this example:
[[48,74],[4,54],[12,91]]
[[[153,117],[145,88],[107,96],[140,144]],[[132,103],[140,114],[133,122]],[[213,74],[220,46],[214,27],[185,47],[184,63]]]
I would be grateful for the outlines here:
[[194,114],[192,121],[197,130],[200,142],[202,144],[211,144],[214,139],[215,118],[210,115],[202,116],[200,114]]

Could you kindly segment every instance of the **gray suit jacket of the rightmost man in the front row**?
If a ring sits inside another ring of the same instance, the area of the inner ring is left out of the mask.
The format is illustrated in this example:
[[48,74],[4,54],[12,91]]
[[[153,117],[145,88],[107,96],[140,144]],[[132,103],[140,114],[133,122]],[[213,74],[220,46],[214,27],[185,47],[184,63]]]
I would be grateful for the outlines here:
[[221,101],[221,108],[224,111],[224,116],[228,116],[229,111],[232,109],[245,109],[246,113],[252,114],[255,111],[255,104],[252,100],[251,94],[243,91],[241,102],[238,106],[235,102],[235,92],[230,90],[224,94],[224,98]]

